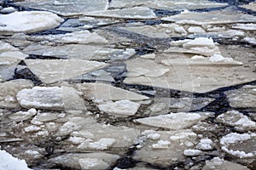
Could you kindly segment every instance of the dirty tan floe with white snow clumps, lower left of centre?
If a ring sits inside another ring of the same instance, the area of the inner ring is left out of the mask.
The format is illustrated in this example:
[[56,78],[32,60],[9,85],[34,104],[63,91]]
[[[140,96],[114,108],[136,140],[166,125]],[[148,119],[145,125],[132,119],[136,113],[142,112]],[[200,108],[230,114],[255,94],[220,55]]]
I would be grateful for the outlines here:
[[73,116],[55,134],[62,137],[70,134],[71,137],[83,138],[79,140],[81,143],[73,146],[79,150],[110,150],[111,148],[121,150],[133,144],[139,135],[139,130],[103,125],[91,118]]

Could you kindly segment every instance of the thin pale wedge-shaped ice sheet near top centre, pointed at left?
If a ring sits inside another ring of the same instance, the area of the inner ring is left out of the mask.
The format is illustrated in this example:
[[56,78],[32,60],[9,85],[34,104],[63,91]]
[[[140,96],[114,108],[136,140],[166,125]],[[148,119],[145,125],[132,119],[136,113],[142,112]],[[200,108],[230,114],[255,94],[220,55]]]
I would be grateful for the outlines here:
[[111,9],[105,11],[94,11],[84,14],[85,16],[111,17],[120,19],[154,19],[156,15],[147,7],[134,7],[123,9]]

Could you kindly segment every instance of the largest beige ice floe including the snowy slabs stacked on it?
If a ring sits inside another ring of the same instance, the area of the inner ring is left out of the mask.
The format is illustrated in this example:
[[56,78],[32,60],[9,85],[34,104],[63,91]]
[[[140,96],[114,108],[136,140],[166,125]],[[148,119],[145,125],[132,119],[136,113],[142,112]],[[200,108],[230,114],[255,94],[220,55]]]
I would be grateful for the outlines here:
[[125,63],[125,83],[196,93],[255,80],[241,61],[224,57],[218,45],[206,37],[173,41],[155,59],[137,58]]

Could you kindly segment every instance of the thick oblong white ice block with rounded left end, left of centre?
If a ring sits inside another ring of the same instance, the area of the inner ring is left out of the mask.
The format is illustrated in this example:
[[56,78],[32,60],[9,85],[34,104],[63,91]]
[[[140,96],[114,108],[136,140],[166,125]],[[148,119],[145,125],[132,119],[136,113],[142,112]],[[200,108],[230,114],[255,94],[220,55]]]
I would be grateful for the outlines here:
[[34,87],[23,89],[17,94],[22,107],[50,110],[86,110],[84,100],[74,88]]

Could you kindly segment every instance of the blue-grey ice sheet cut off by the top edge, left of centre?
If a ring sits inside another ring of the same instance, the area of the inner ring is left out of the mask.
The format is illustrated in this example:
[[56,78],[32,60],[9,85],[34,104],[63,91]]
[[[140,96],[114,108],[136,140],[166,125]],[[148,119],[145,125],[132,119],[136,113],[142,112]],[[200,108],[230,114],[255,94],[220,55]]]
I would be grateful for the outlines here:
[[39,10],[51,11],[63,16],[81,15],[85,12],[105,10],[108,1],[104,0],[46,0],[46,1],[31,1],[26,0],[15,3],[18,6],[27,8],[36,8]]

